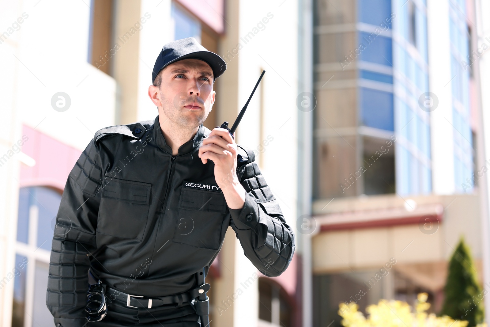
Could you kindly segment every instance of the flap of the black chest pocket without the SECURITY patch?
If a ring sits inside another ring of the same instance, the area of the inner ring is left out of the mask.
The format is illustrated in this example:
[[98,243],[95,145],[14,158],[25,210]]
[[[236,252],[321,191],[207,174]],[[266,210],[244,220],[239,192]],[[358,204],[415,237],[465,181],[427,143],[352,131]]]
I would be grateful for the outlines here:
[[149,204],[151,184],[112,178],[107,180],[102,197],[131,203]]

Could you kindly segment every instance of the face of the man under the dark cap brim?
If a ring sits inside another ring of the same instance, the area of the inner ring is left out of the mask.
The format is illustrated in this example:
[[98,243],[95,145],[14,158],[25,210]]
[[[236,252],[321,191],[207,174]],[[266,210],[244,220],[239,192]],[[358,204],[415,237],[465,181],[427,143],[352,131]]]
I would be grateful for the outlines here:
[[199,59],[176,61],[160,72],[161,107],[177,126],[196,127],[204,123],[215,101],[213,70]]

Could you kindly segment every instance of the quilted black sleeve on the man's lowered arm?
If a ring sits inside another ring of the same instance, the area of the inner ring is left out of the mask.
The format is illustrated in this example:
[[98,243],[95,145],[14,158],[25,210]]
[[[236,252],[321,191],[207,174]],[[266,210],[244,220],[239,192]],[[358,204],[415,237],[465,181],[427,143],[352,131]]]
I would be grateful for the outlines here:
[[94,139],[70,172],[56,215],[46,304],[56,326],[83,326],[89,255],[97,249],[96,227],[102,168]]

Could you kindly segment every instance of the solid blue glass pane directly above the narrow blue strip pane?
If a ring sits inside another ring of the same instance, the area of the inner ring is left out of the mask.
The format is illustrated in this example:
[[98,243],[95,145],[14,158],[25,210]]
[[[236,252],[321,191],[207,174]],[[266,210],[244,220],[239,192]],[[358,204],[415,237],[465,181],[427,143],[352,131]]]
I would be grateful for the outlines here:
[[[392,39],[376,33],[359,32],[359,43],[366,48],[361,50],[360,59],[385,66],[392,66]],[[362,47],[360,47],[363,49]]]

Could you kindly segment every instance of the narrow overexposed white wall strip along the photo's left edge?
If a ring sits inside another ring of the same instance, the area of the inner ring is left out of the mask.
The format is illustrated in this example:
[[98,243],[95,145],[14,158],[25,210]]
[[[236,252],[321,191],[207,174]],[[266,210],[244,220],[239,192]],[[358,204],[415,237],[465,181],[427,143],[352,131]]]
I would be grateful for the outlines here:
[[[7,28],[22,14],[22,2],[0,1],[0,33]],[[19,30],[12,29],[13,33],[8,39],[0,44],[0,121],[3,123],[3,132],[0,135],[0,157],[7,154],[12,146],[21,139],[21,117],[20,113],[13,110],[16,106],[17,85],[15,76],[20,63],[14,57],[19,56],[19,40],[23,27]],[[9,33],[10,34],[10,33]],[[15,220],[17,214],[19,184],[12,178],[19,178],[19,155],[18,153],[8,157],[8,160],[0,167],[0,280],[7,277],[8,272],[14,268],[15,256],[12,249],[15,240]],[[14,281],[8,280],[7,284],[0,290],[0,325],[9,326],[12,316],[12,291]]]

